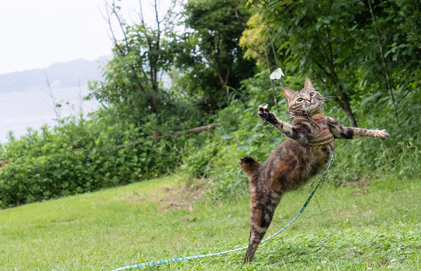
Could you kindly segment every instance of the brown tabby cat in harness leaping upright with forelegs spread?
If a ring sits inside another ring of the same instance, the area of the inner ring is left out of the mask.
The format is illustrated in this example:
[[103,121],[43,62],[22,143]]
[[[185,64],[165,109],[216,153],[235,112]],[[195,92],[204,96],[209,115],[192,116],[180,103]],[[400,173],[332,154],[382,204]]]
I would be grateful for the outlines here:
[[284,88],[292,126],[259,106],[257,115],[288,138],[263,163],[246,156],[240,165],[250,181],[250,237],[244,262],[253,260],[282,195],[296,189],[323,169],[335,149],[334,139],[386,139],[386,130],[343,127],[323,113],[324,98],[305,78],[304,89]]

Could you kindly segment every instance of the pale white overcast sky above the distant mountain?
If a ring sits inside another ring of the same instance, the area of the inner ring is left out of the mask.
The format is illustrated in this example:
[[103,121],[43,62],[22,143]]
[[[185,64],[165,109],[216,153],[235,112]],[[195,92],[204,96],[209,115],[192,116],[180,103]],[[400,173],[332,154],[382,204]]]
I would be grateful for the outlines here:
[[[152,0],[140,1],[150,16]],[[137,18],[130,9],[138,12],[139,0],[117,3],[127,22],[129,13]],[[0,0],[0,74],[111,55],[110,30],[98,8],[105,10],[104,0]]]

